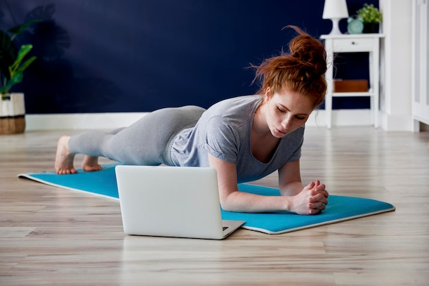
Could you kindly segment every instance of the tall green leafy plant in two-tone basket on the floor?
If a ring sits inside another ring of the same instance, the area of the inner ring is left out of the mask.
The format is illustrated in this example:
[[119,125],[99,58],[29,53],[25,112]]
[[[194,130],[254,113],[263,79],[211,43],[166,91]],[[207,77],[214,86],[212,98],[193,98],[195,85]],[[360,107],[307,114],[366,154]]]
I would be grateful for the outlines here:
[[25,102],[23,93],[10,93],[12,86],[23,80],[24,70],[36,60],[25,59],[33,48],[23,44],[16,49],[12,43],[17,35],[38,21],[32,21],[0,31],[0,134],[22,133],[25,131]]

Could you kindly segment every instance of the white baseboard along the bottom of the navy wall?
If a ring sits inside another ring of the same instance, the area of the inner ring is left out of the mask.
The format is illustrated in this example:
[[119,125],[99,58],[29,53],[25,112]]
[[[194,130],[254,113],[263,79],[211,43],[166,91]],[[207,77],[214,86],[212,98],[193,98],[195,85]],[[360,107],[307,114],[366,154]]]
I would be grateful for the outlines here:
[[[131,125],[145,116],[146,112],[112,112],[91,114],[27,114],[27,131],[35,130],[85,130],[115,129]],[[369,109],[339,109],[332,111],[332,127],[370,126]],[[326,127],[325,110],[312,112],[306,126]]]

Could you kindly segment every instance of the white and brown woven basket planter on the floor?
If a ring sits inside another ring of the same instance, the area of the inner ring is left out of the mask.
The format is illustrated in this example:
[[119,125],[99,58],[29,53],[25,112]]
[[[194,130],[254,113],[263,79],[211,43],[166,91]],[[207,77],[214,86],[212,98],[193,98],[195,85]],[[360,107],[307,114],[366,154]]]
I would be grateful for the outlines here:
[[23,93],[0,94],[0,135],[25,131]]

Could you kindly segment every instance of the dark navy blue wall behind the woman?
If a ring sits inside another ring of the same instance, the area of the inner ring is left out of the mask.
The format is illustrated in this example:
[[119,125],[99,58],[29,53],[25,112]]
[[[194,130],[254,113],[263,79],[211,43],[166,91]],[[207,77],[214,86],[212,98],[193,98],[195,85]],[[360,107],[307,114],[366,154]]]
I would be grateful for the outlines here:
[[[378,5],[348,0],[350,14],[363,3]],[[321,0],[0,0],[0,24],[42,20],[16,39],[38,57],[14,88],[28,114],[147,112],[256,92],[249,64],[287,49],[286,25],[327,34],[322,11]],[[367,77],[365,60],[345,61],[358,66],[341,77]]]

